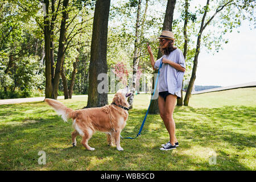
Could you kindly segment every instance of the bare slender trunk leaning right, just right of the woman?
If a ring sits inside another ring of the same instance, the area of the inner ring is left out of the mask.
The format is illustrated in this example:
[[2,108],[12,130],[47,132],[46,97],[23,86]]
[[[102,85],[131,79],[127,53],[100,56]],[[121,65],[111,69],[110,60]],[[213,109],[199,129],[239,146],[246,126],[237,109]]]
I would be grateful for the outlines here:
[[[207,6],[209,5],[209,0],[207,0]],[[204,15],[203,15],[203,19],[201,22],[201,27],[200,27],[200,31],[199,34],[197,36],[197,43],[196,43],[196,54],[194,57],[194,61],[193,61],[193,69],[192,69],[192,75],[188,84],[188,89],[184,98],[184,105],[188,106],[188,102],[189,102],[189,98],[191,97],[191,92],[193,89],[193,85],[194,82],[196,80],[196,68],[197,68],[197,63],[198,63],[198,56],[199,56],[199,52],[200,52],[200,43],[201,43],[201,36],[204,30],[204,20],[205,20],[205,16],[207,15],[207,9],[204,11]]]

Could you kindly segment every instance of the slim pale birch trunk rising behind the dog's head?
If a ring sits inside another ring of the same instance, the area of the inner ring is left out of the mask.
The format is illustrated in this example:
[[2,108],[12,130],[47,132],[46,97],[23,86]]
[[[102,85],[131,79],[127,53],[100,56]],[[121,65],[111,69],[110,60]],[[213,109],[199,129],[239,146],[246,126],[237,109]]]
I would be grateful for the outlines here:
[[[137,71],[138,71],[138,43],[139,43],[139,16],[141,15],[141,0],[138,2],[137,9],[137,20],[135,27],[135,43],[134,43],[134,52],[133,52],[133,84],[131,86],[131,96],[128,99],[130,109],[133,109],[133,100],[134,93],[136,90],[136,81],[137,81]],[[126,85],[125,85],[126,86]]]

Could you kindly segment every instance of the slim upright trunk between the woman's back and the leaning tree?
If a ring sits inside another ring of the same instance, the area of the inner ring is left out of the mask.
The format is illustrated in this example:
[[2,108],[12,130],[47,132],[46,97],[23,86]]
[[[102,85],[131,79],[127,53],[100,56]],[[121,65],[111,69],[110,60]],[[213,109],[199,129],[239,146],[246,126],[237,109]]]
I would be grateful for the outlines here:
[[[187,24],[188,24],[188,0],[185,0],[185,17],[184,17],[184,27],[183,27],[183,35],[184,35],[184,50],[183,56],[186,59],[187,56],[187,49],[188,49],[188,36],[187,36]],[[183,81],[181,86],[181,97],[177,99],[177,106],[183,106]]]

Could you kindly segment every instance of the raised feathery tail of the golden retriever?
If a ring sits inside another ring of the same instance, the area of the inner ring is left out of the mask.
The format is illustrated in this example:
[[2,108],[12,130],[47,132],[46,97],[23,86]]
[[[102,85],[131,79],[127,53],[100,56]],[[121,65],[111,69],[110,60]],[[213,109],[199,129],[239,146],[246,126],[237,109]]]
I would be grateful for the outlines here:
[[48,105],[52,106],[58,115],[61,115],[64,122],[68,122],[68,119],[73,118],[75,115],[75,111],[73,109],[66,107],[59,101],[51,98],[46,98],[44,101],[46,101]]

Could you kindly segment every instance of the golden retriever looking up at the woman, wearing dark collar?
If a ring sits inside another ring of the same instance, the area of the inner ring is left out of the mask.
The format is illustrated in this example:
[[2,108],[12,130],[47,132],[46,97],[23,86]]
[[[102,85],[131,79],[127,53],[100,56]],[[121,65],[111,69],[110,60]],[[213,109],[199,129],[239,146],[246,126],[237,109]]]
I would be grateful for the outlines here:
[[125,89],[118,90],[115,93],[113,102],[103,107],[93,107],[88,109],[73,110],[59,101],[46,98],[48,105],[52,106],[57,114],[61,115],[63,120],[67,122],[69,118],[73,120],[72,144],[76,146],[76,137],[82,137],[82,145],[87,150],[95,150],[88,145],[88,140],[97,131],[102,131],[107,135],[109,146],[113,146],[113,140],[117,150],[122,151],[120,146],[120,133],[126,125],[128,118],[129,103],[127,98],[131,96],[128,86]]

